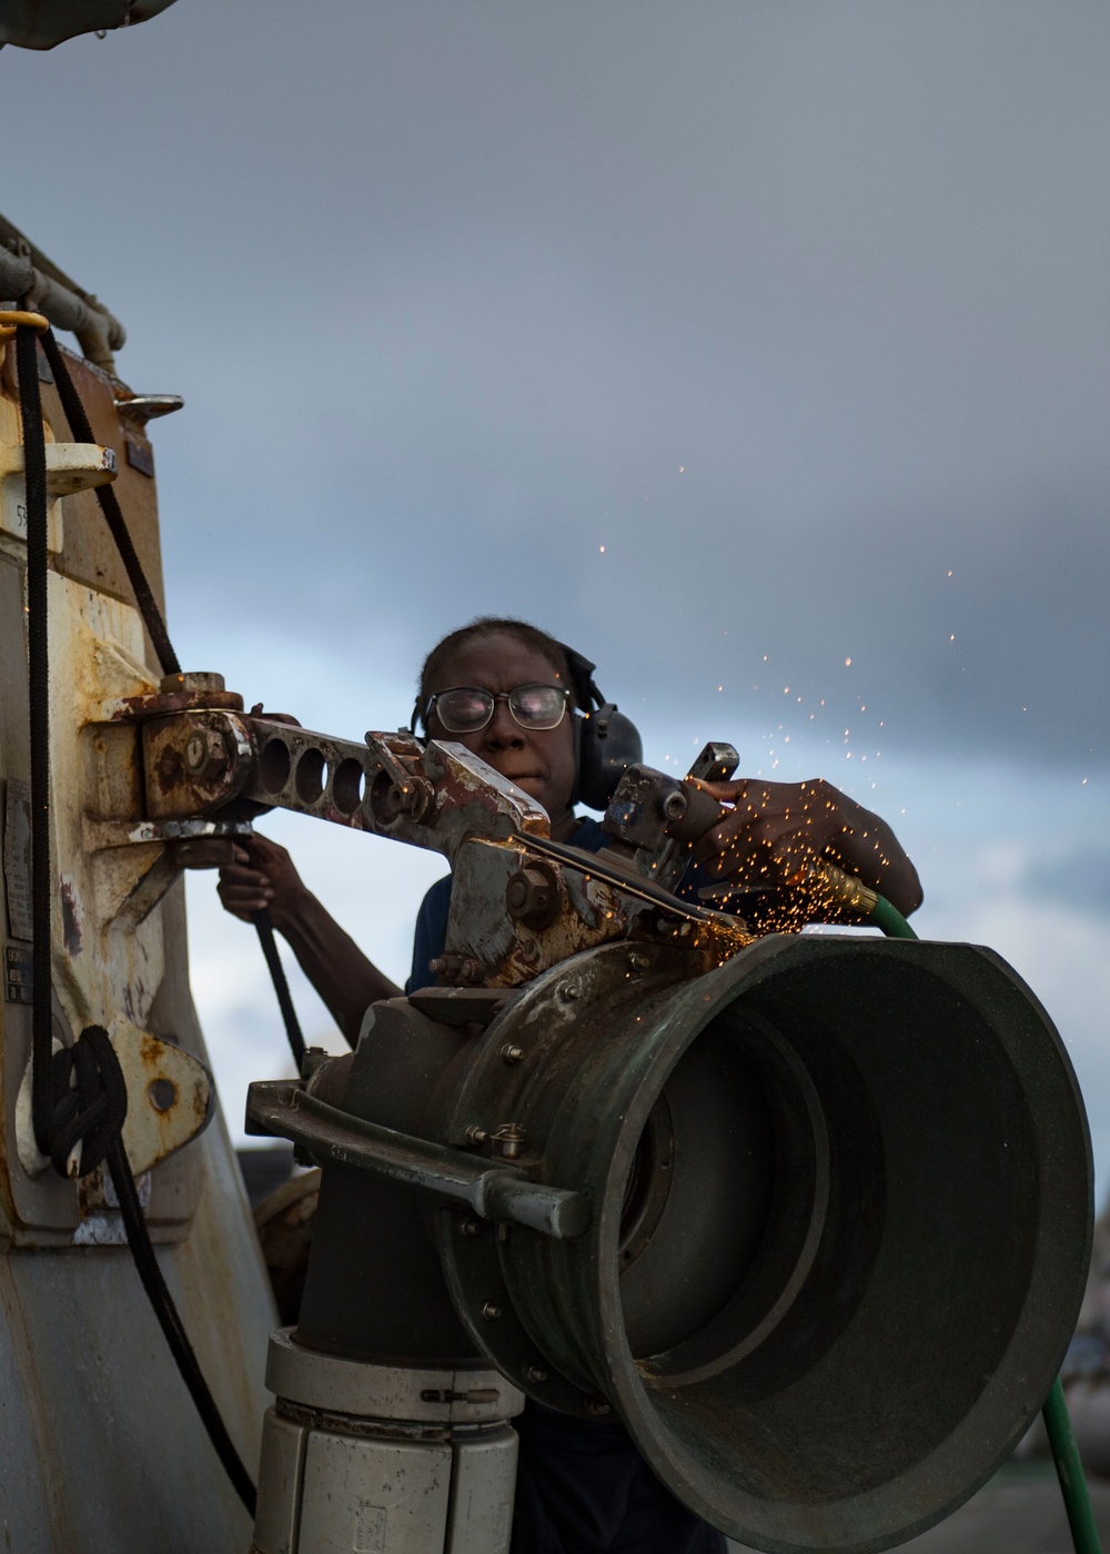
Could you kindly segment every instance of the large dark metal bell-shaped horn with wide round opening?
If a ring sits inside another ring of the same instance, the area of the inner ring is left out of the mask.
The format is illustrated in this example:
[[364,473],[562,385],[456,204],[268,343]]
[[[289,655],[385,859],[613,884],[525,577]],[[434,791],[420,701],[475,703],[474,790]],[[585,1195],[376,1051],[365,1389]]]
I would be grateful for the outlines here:
[[1015,1445],[1079,1312],[1091,1161],[1060,1038],[995,954],[773,936],[692,974],[623,943],[483,1026],[452,996],[378,1005],[344,1105],[511,1153],[589,1223],[326,1166],[302,1343],[488,1355],[619,1416],[686,1504],[779,1554],[899,1543]]

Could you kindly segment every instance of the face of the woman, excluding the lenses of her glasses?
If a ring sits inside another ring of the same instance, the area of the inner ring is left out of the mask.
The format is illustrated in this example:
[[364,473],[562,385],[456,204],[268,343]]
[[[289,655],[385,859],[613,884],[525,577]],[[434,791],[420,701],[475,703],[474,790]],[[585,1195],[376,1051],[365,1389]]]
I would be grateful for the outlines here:
[[[563,679],[541,653],[516,637],[497,634],[465,642],[429,688],[440,692],[473,685],[496,695],[529,684],[561,685]],[[555,839],[564,838],[572,828],[574,726],[569,710],[555,729],[522,729],[508,710],[508,702],[497,701],[493,718],[477,733],[449,733],[432,709],[428,732],[434,740],[465,744],[541,803],[550,816]]]

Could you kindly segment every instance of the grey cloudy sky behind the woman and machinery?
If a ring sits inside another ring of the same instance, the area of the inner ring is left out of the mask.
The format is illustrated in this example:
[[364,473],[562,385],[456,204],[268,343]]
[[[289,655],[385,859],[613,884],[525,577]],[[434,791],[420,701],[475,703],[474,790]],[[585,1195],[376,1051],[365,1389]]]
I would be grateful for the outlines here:
[[[508,611],[656,761],[830,777],[1034,984],[1110,1166],[1108,64],[1101,0],[179,0],[0,53],[3,210],[187,398],[185,660],[361,733]],[[322,830],[274,822],[401,973],[434,866]],[[233,1091],[272,1010],[191,900]]]

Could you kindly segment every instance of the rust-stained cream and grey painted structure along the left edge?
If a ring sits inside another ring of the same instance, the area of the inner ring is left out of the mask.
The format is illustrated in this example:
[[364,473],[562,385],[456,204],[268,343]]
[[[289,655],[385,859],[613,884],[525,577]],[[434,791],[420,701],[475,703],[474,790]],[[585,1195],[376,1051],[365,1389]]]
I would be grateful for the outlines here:
[[[96,440],[123,448],[112,381],[86,364],[75,364],[75,378]],[[65,438],[47,384],[44,406]],[[0,443],[19,441],[8,353]],[[157,594],[154,483],[124,463],[117,493]],[[155,696],[159,674],[95,494],[65,496],[61,505],[48,580],[54,1030],[70,1041],[93,1019],[137,1027],[135,1083],[160,1153],[177,1136],[174,1113],[191,1127],[207,1106],[191,1063],[204,1064],[205,1051],[188,993],[183,898],[160,839],[115,833],[103,839],[118,845],[90,850],[86,831],[141,814],[137,732],[95,720],[104,702]],[[9,782],[30,775],[23,572],[22,539],[0,530],[0,800]],[[28,931],[19,912],[0,909],[5,956],[30,949]],[[169,1072],[166,1049],[145,1033],[177,1044],[190,1061]],[[0,1548],[241,1554],[249,1518],[120,1245],[110,1192],[99,1175],[78,1187],[53,1172],[30,1176],[19,1162],[14,1113],[30,1007],[12,998],[0,1001]],[[152,1080],[176,1086],[165,1116],[148,1100]],[[140,1193],[182,1321],[253,1473],[275,1310],[222,1120],[141,1176]]]

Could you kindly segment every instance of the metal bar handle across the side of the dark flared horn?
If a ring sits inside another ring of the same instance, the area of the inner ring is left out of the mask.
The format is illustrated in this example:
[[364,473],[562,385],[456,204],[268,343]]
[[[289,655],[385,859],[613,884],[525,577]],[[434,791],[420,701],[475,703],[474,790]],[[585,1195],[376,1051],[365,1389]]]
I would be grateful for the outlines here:
[[581,1235],[589,1225],[581,1193],[535,1183],[519,1166],[474,1159],[446,1144],[365,1122],[288,1080],[250,1085],[247,1130],[292,1139],[316,1159],[465,1203],[482,1220],[511,1220],[555,1240]]

